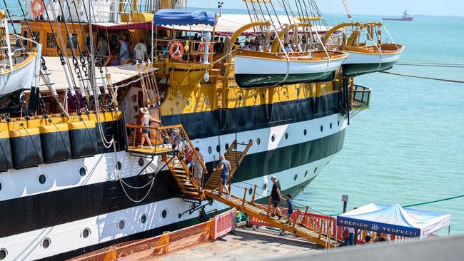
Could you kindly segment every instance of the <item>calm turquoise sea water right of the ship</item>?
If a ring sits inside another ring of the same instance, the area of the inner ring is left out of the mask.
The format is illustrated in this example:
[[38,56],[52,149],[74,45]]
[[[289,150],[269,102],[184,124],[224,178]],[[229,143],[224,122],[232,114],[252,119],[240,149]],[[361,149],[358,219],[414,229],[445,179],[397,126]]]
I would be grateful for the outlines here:
[[[336,21],[343,21],[342,16]],[[463,19],[385,25],[406,46],[400,61],[464,63]],[[391,71],[464,81],[464,68],[396,65]],[[342,194],[349,195],[348,210],[368,203],[409,205],[463,195],[464,84],[383,73],[357,77],[355,83],[373,88],[371,108],[351,119],[341,153],[296,201],[323,213],[340,213]],[[415,208],[450,213],[451,233],[464,233],[464,198]]]

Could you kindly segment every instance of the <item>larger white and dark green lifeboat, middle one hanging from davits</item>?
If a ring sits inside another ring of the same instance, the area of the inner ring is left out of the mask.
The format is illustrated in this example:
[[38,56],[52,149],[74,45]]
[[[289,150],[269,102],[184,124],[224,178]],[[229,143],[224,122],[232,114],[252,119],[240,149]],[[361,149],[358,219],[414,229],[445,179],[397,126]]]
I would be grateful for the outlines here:
[[238,49],[234,58],[241,88],[332,81],[346,59],[341,51],[267,53]]

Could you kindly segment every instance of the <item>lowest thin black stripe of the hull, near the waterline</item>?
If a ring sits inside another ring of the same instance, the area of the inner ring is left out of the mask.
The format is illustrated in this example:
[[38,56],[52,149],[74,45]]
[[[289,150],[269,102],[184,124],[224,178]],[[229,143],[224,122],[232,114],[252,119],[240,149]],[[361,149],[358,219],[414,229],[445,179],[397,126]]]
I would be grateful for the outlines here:
[[[307,180],[301,184],[298,184],[296,186],[293,186],[292,188],[288,188],[287,190],[283,190],[282,191],[282,194],[283,195],[287,195],[287,194],[291,194],[293,196],[293,198],[296,197],[296,195],[298,195],[298,193],[301,193],[301,191],[306,188],[309,183],[311,183],[311,181],[313,181],[313,179],[311,180]],[[257,203],[261,203],[261,204],[268,204],[268,201],[269,201],[269,197],[266,197],[266,198],[260,198],[259,200],[256,200]],[[218,215],[220,213],[223,213],[224,211],[226,210],[221,210],[221,211],[218,211],[217,213],[210,213],[207,215],[207,218],[213,218],[214,215]],[[115,245],[115,244],[118,244],[118,243],[121,243],[121,242],[128,242],[128,241],[131,241],[131,240],[140,240],[140,239],[144,239],[144,238],[148,238],[148,237],[156,237],[157,235],[161,235],[163,234],[163,232],[165,231],[175,231],[175,230],[180,230],[184,227],[189,227],[191,225],[196,225],[200,222],[204,222],[206,220],[203,220],[199,217],[197,218],[191,218],[189,220],[184,220],[184,221],[181,221],[181,222],[176,222],[176,223],[173,223],[171,225],[165,225],[163,227],[156,227],[152,230],[146,230],[146,231],[143,231],[143,232],[139,232],[137,234],[133,234],[133,235],[128,235],[126,237],[120,237],[116,240],[111,240],[111,241],[108,241],[108,242],[104,242],[104,243],[101,243],[101,244],[97,244],[97,245],[91,245],[89,247],[84,247],[84,248],[81,248],[81,249],[78,249],[78,250],[73,250],[73,251],[70,251],[70,252],[65,252],[65,253],[62,253],[60,255],[55,255],[53,257],[46,257],[46,258],[43,258],[41,260],[46,260],[46,261],[61,261],[61,260],[66,260],[66,259],[69,259],[71,257],[76,257],[78,255],[84,255],[85,253],[88,253],[88,252],[92,252],[92,251],[95,251],[95,250],[99,250],[101,248],[104,248],[104,247],[109,247],[111,245]]]

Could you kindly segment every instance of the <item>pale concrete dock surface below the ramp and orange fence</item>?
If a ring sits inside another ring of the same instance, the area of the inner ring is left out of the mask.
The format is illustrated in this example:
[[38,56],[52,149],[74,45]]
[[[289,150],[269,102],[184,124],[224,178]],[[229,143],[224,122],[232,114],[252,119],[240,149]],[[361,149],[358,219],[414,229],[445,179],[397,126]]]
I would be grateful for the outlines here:
[[186,250],[173,252],[161,260],[206,261],[206,260],[266,260],[273,257],[288,257],[305,253],[323,252],[318,245],[285,233],[260,227],[238,228],[214,242],[204,243]]

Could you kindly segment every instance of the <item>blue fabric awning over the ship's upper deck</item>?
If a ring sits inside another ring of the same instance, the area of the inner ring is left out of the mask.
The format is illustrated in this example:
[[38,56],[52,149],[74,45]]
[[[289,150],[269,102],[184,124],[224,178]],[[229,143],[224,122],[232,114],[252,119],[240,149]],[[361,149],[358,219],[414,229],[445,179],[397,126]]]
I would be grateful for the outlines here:
[[208,11],[161,9],[155,13],[153,21],[156,26],[192,26],[195,24],[214,26],[216,18]]

